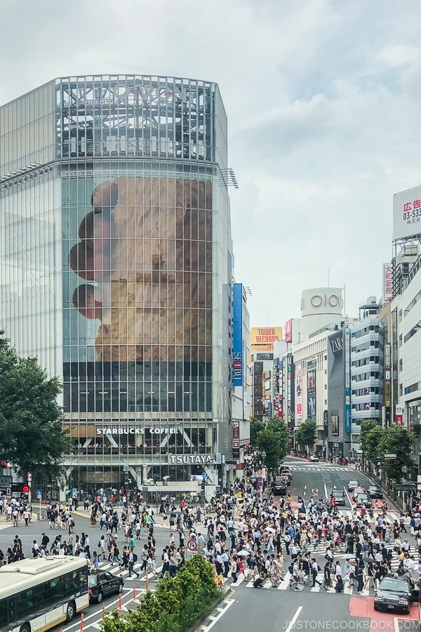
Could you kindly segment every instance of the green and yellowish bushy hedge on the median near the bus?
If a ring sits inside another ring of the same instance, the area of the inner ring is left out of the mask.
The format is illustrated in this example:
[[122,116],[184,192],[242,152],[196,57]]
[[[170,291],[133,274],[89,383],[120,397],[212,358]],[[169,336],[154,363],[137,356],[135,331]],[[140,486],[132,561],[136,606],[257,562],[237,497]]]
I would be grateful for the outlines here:
[[219,591],[213,567],[203,555],[185,562],[175,577],[166,573],[154,593],[127,614],[114,610],[102,621],[104,632],[185,632],[212,609]]

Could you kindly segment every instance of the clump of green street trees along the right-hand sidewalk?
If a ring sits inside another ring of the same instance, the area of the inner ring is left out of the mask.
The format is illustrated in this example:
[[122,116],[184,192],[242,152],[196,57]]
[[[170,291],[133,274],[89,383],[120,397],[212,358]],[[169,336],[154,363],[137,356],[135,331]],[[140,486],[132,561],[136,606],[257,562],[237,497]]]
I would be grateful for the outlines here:
[[[399,482],[404,476],[402,467],[411,466],[410,453],[415,436],[406,428],[382,428],[374,419],[361,423],[360,445],[365,459],[382,459],[382,472],[389,480]],[[385,454],[396,454],[396,458],[385,459]]]

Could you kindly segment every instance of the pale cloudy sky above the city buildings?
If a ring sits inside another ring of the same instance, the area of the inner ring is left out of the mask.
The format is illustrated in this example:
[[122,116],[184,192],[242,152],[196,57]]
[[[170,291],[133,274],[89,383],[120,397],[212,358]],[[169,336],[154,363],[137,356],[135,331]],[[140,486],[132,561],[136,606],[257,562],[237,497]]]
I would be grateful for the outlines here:
[[252,326],[301,292],[382,294],[392,196],[421,184],[419,0],[0,0],[0,103],[76,74],[215,81]]

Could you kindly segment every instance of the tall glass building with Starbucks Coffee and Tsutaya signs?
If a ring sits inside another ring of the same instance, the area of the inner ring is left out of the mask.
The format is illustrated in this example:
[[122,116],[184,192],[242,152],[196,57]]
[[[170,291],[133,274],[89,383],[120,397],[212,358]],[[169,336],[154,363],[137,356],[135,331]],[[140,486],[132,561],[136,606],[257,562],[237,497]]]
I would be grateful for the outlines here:
[[63,381],[69,489],[119,489],[128,468],[138,487],[222,482],[226,173],[207,81],[65,77],[0,108],[1,327]]

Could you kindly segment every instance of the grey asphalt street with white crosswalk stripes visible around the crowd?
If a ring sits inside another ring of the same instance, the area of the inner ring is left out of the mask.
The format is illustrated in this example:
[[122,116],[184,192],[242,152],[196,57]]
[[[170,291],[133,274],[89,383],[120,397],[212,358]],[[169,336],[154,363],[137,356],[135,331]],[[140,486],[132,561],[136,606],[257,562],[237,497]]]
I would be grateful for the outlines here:
[[[352,466],[335,466],[328,463],[308,463],[306,461],[298,461],[292,458],[285,461],[292,471],[292,482],[288,488],[292,497],[293,505],[296,504],[298,494],[301,494],[306,503],[310,496],[330,496],[332,489],[344,489],[346,495],[346,506],[340,511],[344,515],[352,515],[350,494],[347,492],[347,482],[357,479],[361,485],[366,487],[370,484],[370,480],[360,472],[356,472]],[[276,497],[278,499],[278,497]],[[92,528],[89,526],[87,517],[80,515],[81,512],[73,512],[75,520],[75,534],[88,532],[91,538],[91,551],[94,551],[97,541],[100,539],[99,527]],[[88,514],[86,514],[87,516]],[[391,510],[388,512],[391,522],[396,518],[399,520],[399,512]],[[160,570],[160,553],[163,546],[168,544],[169,529],[166,524],[160,522],[156,517],[157,524],[154,529],[156,538],[156,556],[157,567]],[[373,524],[373,519],[370,520]],[[18,528],[12,527],[8,522],[0,522],[0,548],[6,552],[8,546],[13,543],[13,538],[18,535],[22,539],[23,550],[26,556],[31,555],[32,541],[41,540],[41,533],[46,532],[50,537],[50,541],[58,533],[56,530],[48,529],[48,522],[32,522],[29,527],[25,528],[20,525]],[[198,525],[198,532],[204,532],[203,525]],[[141,539],[136,541],[135,551],[139,552],[146,541],[145,529],[142,529]],[[62,531],[62,538],[65,539],[65,531]],[[409,536],[411,544],[414,538]],[[119,544],[123,542],[123,534],[119,531]],[[392,545],[388,545],[392,546]],[[312,555],[316,557],[317,562],[323,568],[324,555],[326,548],[319,546]],[[187,554],[188,555],[188,554]],[[343,567],[345,558],[349,557],[345,553],[338,553],[335,559],[339,558]],[[417,558],[417,554],[415,554]],[[373,590],[366,589],[360,595],[356,594],[356,588],[347,588],[345,582],[345,591],[337,594],[333,588],[327,592],[316,585],[312,588],[309,584],[300,586],[298,591],[290,591],[289,573],[287,571],[290,558],[286,556],[285,561],[285,577],[283,581],[272,588],[269,581],[265,581],[260,589],[253,588],[253,581],[246,581],[243,574],[239,575],[236,584],[232,585],[232,579],[227,579],[226,586],[231,588],[231,592],[227,594],[227,598],[220,604],[218,610],[215,610],[212,617],[208,618],[198,629],[202,632],[208,632],[213,629],[214,632],[222,632],[229,630],[230,632],[243,632],[245,629],[258,630],[259,632],[272,632],[290,630],[295,627],[298,629],[343,629],[345,627],[356,629],[390,629],[397,632],[399,629],[408,629],[418,626],[418,605],[414,604],[411,608],[410,615],[407,617],[397,617],[395,614],[383,614],[374,612],[373,610]],[[392,562],[392,569],[396,567],[397,561]],[[138,567],[138,565],[136,565]],[[135,567],[135,568],[136,568]],[[139,598],[145,593],[145,573],[142,573],[140,579],[128,578],[127,570],[119,570],[119,567],[111,566],[109,562],[101,562],[100,569],[112,570],[114,574],[119,574],[125,579],[125,586],[121,598],[122,611],[128,608],[136,607],[133,601],[133,585],[135,586],[135,597]],[[322,574],[319,574],[319,580]],[[149,575],[149,588],[154,588],[156,583]],[[112,595],[105,599],[105,607],[107,612],[119,607],[118,595]],[[102,618],[102,605],[93,604],[84,613],[84,629],[98,630]],[[66,632],[76,632],[80,626],[79,614],[74,621],[66,626],[59,626]]]

